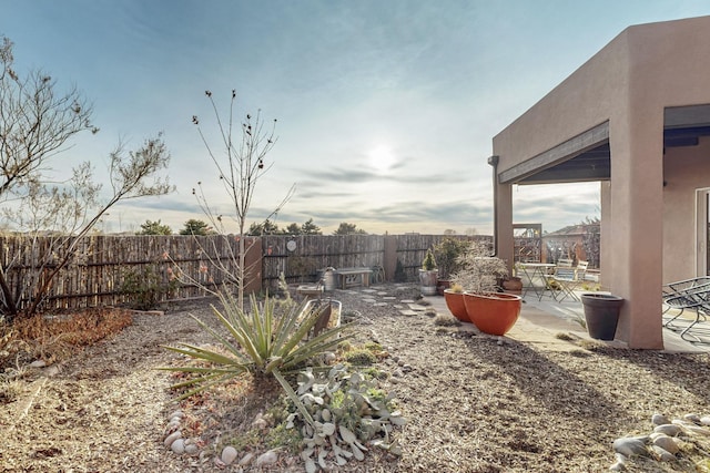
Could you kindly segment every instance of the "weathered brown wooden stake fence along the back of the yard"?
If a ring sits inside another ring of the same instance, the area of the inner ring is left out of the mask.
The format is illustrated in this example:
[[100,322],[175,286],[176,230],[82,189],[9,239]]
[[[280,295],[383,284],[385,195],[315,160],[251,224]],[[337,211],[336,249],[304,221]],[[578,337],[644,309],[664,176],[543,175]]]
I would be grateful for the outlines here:
[[[0,237],[0,264],[20,307],[27,307],[31,290],[59,263],[61,238],[65,237]],[[326,267],[382,266],[386,279],[394,280],[399,266],[405,280],[416,281],[426,250],[443,238],[416,234],[250,237],[245,287],[247,291],[276,287],[282,274],[288,284],[311,282]],[[95,235],[74,243],[77,255],[53,280],[44,308],[124,304],[123,289],[131,276],[151,276],[170,285],[180,274],[181,282],[163,298],[202,297],[236,274],[239,237],[234,236]]]

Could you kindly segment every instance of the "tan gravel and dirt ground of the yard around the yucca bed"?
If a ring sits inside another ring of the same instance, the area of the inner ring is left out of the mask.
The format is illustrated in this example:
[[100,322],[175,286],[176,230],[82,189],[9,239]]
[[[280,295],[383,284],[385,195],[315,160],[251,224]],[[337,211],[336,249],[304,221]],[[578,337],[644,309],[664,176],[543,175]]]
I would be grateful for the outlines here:
[[[367,294],[373,304],[358,290],[336,291],[343,312],[358,320],[358,339],[388,351],[379,368],[400,371],[383,385],[396,394],[408,421],[395,432],[400,457],[371,449],[363,462],[337,471],[602,472],[616,461],[613,440],[650,433],[653,413],[670,419],[710,414],[707,354],[588,342],[571,351],[546,351],[440,326],[426,311],[402,315],[395,305],[417,292],[383,286]],[[0,472],[304,471],[285,449],[263,470],[253,462],[243,467],[215,463],[245,419],[277,402],[278,388],[254,392],[242,385],[180,405],[171,402],[174,378],[155,368],[180,360],[161,345],[207,341],[189,313],[212,319],[206,304],[162,316],[138,313],[121,333],[64,362],[10,368],[22,370],[22,383],[10,402],[0,400]],[[183,430],[200,439],[194,455],[163,445],[176,410],[185,415]],[[627,471],[696,471],[694,463],[702,461],[690,446],[677,457],[666,463],[633,459]]]

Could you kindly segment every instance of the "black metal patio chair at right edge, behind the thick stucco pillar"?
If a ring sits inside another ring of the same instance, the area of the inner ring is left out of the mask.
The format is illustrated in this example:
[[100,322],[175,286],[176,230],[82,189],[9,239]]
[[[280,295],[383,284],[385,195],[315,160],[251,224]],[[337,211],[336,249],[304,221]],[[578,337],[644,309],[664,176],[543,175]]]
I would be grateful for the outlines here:
[[[666,311],[669,309],[678,310],[674,316],[663,321],[663,327],[679,331],[680,338],[686,341],[710,343],[710,338],[708,338],[710,328],[699,326],[700,322],[707,321],[710,313],[710,284],[680,289],[676,294],[665,297],[663,304],[668,307]],[[680,316],[686,311],[691,316],[681,318]],[[701,338],[700,335],[706,335],[706,338]]]

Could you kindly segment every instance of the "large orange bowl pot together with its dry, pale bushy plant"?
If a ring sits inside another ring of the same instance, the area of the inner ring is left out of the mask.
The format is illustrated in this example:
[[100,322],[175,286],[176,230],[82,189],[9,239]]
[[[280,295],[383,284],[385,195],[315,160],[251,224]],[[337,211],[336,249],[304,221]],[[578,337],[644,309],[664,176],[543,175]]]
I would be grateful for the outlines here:
[[464,287],[466,313],[478,330],[503,336],[518,320],[523,298],[500,290],[497,282],[508,268],[503,259],[488,255],[486,243],[474,241],[459,258],[462,269],[453,280]]

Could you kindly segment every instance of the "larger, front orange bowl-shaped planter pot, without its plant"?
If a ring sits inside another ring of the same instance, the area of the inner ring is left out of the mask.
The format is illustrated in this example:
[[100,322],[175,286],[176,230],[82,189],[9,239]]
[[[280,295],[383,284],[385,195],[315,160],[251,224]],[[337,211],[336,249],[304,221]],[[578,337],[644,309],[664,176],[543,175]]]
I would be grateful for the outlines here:
[[520,315],[520,296],[495,292],[477,295],[464,292],[466,313],[471,322],[484,333],[506,335]]

